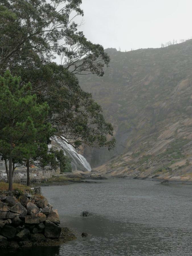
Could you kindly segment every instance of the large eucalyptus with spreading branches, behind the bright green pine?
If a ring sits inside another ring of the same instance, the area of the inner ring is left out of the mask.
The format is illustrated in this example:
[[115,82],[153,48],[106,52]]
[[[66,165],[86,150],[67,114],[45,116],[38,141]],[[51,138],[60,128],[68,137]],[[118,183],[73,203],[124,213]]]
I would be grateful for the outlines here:
[[[81,0],[2,0],[0,3],[0,72],[9,69],[31,82],[39,103],[48,102],[48,121],[55,135],[73,144],[111,149],[112,125],[75,75],[104,75],[110,58],[88,41],[77,16]],[[59,56],[61,65],[53,63]]]

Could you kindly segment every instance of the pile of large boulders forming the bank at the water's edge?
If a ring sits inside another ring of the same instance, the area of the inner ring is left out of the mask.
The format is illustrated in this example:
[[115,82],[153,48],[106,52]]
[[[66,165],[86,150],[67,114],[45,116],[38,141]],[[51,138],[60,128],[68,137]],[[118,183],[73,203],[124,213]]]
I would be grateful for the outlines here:
[[0,196],[0,247],[59,238],[59,214],[45,197],[13,193]]

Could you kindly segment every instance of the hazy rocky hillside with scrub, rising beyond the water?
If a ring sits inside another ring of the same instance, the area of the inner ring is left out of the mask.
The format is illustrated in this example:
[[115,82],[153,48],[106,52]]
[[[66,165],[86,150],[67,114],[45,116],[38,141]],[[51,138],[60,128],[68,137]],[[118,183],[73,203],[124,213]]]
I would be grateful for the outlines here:
[[104,77],[80,84],[115,128],[114,151],[94,151],[101,174],[192,177],[192,40],[158,49],[120,52]]

